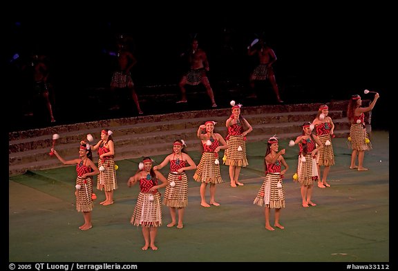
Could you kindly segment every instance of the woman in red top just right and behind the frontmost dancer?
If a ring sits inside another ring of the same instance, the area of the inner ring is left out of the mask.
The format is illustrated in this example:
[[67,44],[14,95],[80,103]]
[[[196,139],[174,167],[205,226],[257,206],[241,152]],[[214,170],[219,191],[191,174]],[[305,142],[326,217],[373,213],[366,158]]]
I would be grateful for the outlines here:
[[160,165],[153,167],[153,170],[161,170],[170,163],[170,172],[167,177],[169,185],[167,185],[163,197],[163,204],[170,208],[171,223],[167,224],[169,228],[176,225],[176,209],[178,209],[177,228],[184,227],[182,218],[184,217],[184,208],[188,205],[188,178],[185,171],[196,169],[196,163],[184,151],[185,146],[184,141],[177,139],[173,143],[173,153],[167,155]]

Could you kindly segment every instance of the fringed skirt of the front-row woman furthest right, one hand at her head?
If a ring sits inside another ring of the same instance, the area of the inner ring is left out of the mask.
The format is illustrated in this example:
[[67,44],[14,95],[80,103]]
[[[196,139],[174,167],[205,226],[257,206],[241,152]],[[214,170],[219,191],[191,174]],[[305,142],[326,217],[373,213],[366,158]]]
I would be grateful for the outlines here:
[[268,173],[265,176],[253,204],[267,208],[285,208],[285,191],[281,174]]

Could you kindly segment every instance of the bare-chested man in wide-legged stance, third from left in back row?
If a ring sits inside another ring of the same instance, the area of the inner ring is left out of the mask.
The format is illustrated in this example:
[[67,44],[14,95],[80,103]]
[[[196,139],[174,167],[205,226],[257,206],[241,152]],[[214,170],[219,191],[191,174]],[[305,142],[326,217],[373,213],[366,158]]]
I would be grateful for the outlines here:
[[178,86],[181,90],[181,100],[177,103],[187,103],[187,93],[185,85],[197,86],[202,83],[207,90],[207,94],[211,99],[211,106],[216,108],[216,101],[214,101],[214,93],[211,89],[209,79],[207,78],[206,72],[209,71],[209,61],[205,51],[198,48],[198,40],[193,39],[191,50],[188,52],[189,71],[184,74]]

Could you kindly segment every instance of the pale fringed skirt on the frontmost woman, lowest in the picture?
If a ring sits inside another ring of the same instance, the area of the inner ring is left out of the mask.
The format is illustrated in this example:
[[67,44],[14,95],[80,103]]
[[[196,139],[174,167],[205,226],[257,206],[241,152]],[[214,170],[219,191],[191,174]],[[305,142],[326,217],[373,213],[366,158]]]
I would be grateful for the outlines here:
[[[153,201],[149,196],[153,195]],[[138,194],[135,204],[131,224],[142,225],[142,227],[159,227],[162,225],[162,205],[160,205],[160,193],[142,193]]]

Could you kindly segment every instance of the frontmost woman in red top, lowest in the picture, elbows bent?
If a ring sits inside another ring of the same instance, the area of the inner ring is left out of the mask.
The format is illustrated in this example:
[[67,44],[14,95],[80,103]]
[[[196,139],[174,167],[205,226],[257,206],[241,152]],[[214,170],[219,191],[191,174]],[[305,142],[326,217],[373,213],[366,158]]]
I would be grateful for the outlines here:
[[[158,185],[158,180],[162,182],[160,185]],[[158,170],[153,170],[151,158],[144,157],[140,163],[140,170],[129,178],[127,185],[131,187],[135,183],[140,183],[140,194],[138,194],[130,222],[133,225],[142,226],[142,235],[145,240],[142,250],[147,250],[149,247],[152,250],[158,250],[155,246],[155,238],[158,227],[162,225],[162,205],[160,205],[158,189],[168,185],[167,179]]]

